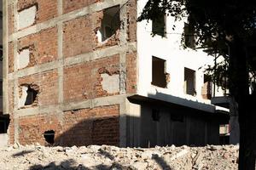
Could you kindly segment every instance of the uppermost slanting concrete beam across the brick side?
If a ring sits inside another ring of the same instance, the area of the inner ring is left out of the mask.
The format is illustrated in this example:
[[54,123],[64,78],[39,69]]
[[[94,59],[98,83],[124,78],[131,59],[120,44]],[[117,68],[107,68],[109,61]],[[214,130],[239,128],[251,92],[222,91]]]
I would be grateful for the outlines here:
[[[9,42],[14,41],[15,39],[18,39],[20,37],[25,37],[27,35],[33,34],[33,33],[37,33],[38,31],[42,31],[44,29],[56,26],[58,23],[62,23],[62,22],[66,22],[67,20],[73,20],[75,18],[78,18],[80,16],[84,16],[86,14],[91,14],[97,11],[101,11],[104,8],[110,8],[112,6],[118,5],[125,2],[124,0],[117,0],[117,1],[110,1],[110,0],[106,0],[104,2],[100,2],[100,3],[94,3],[91,4],[87,7],[84,8],[79,8],[77,10],[74,10],[70,13],[67,14],[63,14],[60,15],[58,17],[55,17],[51,20],[46,20],[42,23],[39,23],[35,26],[30,26],[24,30],[21,31],[17,31],[14,34],[12,34],[9,37]],[[61,13],[61,12],[59,12]]]

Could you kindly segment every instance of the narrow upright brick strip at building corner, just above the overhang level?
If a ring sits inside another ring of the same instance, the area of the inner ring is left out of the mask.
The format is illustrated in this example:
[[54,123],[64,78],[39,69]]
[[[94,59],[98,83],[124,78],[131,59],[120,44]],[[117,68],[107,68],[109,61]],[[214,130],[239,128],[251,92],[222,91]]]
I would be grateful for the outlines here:
[[126,54],[126,92],[137,92],[137,52]]

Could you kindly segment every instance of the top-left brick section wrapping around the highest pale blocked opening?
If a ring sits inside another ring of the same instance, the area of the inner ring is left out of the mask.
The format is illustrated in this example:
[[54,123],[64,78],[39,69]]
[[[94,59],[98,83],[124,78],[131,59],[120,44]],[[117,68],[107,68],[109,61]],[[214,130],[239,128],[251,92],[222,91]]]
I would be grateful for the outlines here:
[[58,14],[57,0],[18,0],[17,8],[21,11],[35,4],[38,5],[35,24],[52,19]]

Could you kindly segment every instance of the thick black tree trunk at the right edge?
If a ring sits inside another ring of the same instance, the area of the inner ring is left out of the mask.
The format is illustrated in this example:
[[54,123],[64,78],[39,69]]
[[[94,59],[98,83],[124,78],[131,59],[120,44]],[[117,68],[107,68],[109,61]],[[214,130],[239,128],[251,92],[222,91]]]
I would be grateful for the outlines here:
[[[250,105],[248,87],[247,56],[243,43],[239,38],[230,42],[230,94],[238,104],[240,125],[239,170],[255,170],[254,144],[256,144],[253,130],[256,122],[253,120],[255,109]],[[255,105],[255,103],[253,104]]]

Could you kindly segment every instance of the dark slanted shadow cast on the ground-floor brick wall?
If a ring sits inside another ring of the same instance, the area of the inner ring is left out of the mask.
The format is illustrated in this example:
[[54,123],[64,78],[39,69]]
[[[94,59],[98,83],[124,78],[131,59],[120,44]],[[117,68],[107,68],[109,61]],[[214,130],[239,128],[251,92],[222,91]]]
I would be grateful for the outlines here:
[[65,126],[67,130],[56,136],[53,145],[119,145],[119,116],[84,119],[75,125],[70,123]]

